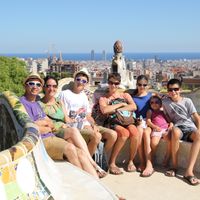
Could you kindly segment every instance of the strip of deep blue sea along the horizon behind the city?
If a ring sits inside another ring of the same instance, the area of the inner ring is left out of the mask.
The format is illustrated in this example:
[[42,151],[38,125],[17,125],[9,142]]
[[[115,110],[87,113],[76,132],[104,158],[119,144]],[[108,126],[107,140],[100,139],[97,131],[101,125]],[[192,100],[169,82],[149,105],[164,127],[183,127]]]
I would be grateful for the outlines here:
[[[107,53],[106,60],[112,60],[114,53]],[[185,52],[185,53],[123,53],[125,59],[129,60],[146,60],[146,59],[161,59],[161,60],[192,60],[192,59],[200,59],[200,52]],[[8,54],[1,54],[0,56],[9,56],[9,57],[19,57],[19,58],[47,58],[47,54],[42,53],[8,53]],[[59,54],[56,54],[59,57]],[[81,60],[91,60],[90,53],[63,53],[62,54],[63,60],[74,60],[74,61],[81,61]],[[94,60],[99,61],[103,60],[102,53],[95,53]]]

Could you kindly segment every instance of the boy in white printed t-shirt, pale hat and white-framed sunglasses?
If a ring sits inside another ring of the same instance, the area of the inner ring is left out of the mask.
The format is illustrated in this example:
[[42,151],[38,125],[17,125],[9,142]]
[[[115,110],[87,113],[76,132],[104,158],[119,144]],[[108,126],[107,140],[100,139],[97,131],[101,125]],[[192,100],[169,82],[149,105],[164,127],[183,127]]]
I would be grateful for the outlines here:
[[89,78],[87,69],[82,68],[74,74],[73,88],[61,91],[59,98],[64,103],[68,116],[76,122],[74,125],[80,129],[84,139],[89,140],[90,154],[94,154],[101,137],[106,140],[105,151],[108,153],[117,139],[117,134],[111,129],[95,125],[91,116],[91,106],[84,92]]

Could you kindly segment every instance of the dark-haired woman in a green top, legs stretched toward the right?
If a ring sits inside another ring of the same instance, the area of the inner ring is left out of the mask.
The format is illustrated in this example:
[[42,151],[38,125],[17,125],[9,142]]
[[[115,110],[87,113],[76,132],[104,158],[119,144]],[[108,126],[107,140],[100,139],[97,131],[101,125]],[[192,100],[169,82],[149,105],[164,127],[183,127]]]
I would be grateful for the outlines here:
[[70,127],[67,123],[74,122],[74,119],[68,117],[64,105],[61,101],[55,98],[58,88],[58,81],[51,76],[44,79],[44,97],[41,99],[41,106],[46,115],[53,120],[56,136],[65,139],[74,144],[78,149],[84,151],[89,162],[98,172],[99,177],[105,176],[105,172],[92,159],[85,140],[81,136],[79,130],[75,127]]

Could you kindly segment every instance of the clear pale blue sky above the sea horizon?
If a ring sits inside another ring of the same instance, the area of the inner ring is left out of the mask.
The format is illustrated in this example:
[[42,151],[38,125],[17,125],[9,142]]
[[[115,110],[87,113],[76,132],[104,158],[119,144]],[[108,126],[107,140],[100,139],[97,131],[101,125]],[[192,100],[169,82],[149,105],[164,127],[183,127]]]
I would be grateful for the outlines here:
[[1,0],[0,53],[200,52],[199,0]]

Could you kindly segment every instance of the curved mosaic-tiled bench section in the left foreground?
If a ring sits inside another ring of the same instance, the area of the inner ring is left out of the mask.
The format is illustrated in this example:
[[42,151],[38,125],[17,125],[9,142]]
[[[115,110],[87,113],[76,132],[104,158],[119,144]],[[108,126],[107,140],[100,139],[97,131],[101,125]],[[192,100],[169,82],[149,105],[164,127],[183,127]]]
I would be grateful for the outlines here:
[[0,199],[116,199],[109,189],[67,162],[47,155],[37,126],[19,98],[0,94]]

